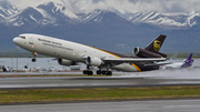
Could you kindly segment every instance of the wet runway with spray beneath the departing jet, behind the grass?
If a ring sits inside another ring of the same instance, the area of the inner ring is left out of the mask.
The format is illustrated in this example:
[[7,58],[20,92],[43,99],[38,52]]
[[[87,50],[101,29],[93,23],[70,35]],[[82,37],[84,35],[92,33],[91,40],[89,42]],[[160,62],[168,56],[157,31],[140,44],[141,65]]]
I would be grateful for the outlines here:
[[[186,73],[186,71],[183,72]],[[176,71],[150,71],[141,73],[118,72],[121,75],[112,77],[0,78],[0,90],[200,85],[199,74],[191,72],[199,73],[199,71],[189,71],[189,74],[184,75],[183,73],[172,74]]]

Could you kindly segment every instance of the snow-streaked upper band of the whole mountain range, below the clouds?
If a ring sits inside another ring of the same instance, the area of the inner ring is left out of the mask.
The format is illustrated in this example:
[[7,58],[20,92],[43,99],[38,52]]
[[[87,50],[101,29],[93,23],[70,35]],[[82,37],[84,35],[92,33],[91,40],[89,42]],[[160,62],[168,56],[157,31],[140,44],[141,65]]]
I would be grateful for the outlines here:
[[[0,23],[6,26],[21,27],[27,24],[33,26],[62,26],[97,22],[101,23],[103,14],[116,13],[133,24],[147,23],[157,26],[162,29],[189,29],[199,23],[200,12],[191,13],[159,13],[147,10],[137,13],[120,13],[117,9],[93,10],[90,13],[84,11],[73,13],[64,4],[47,2],[37,8],[26,8],[19,10],[7,0],[0,1]],[[109,17],[109,16],[107,16]]]

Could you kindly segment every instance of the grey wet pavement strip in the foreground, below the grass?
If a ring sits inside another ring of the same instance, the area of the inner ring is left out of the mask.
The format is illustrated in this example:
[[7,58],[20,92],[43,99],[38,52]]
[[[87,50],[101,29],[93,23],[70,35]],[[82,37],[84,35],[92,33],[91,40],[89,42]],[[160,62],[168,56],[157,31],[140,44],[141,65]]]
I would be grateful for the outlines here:
[[200,100],[0,105],[0,112],[199,112]]

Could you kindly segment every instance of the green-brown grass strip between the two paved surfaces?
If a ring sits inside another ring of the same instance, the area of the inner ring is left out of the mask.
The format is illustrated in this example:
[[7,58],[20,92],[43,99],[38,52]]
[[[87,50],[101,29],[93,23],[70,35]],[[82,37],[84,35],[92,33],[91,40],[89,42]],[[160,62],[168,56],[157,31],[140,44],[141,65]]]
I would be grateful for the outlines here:
[[39,89],[0,91],[0,103],[198,96],[200,96],[200,85],[121,89]]

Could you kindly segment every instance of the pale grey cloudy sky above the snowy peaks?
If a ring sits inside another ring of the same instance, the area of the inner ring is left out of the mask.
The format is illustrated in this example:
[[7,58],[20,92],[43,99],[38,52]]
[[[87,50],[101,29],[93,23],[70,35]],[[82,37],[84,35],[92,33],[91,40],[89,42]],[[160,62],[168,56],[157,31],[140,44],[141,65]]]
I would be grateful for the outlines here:
[[64,2],[73,11],[91,11],[113,7],[120,12],[156,10],[164,13],[200,11],[200,0],[8,0],[19,8],[37,7],[43,2]]

